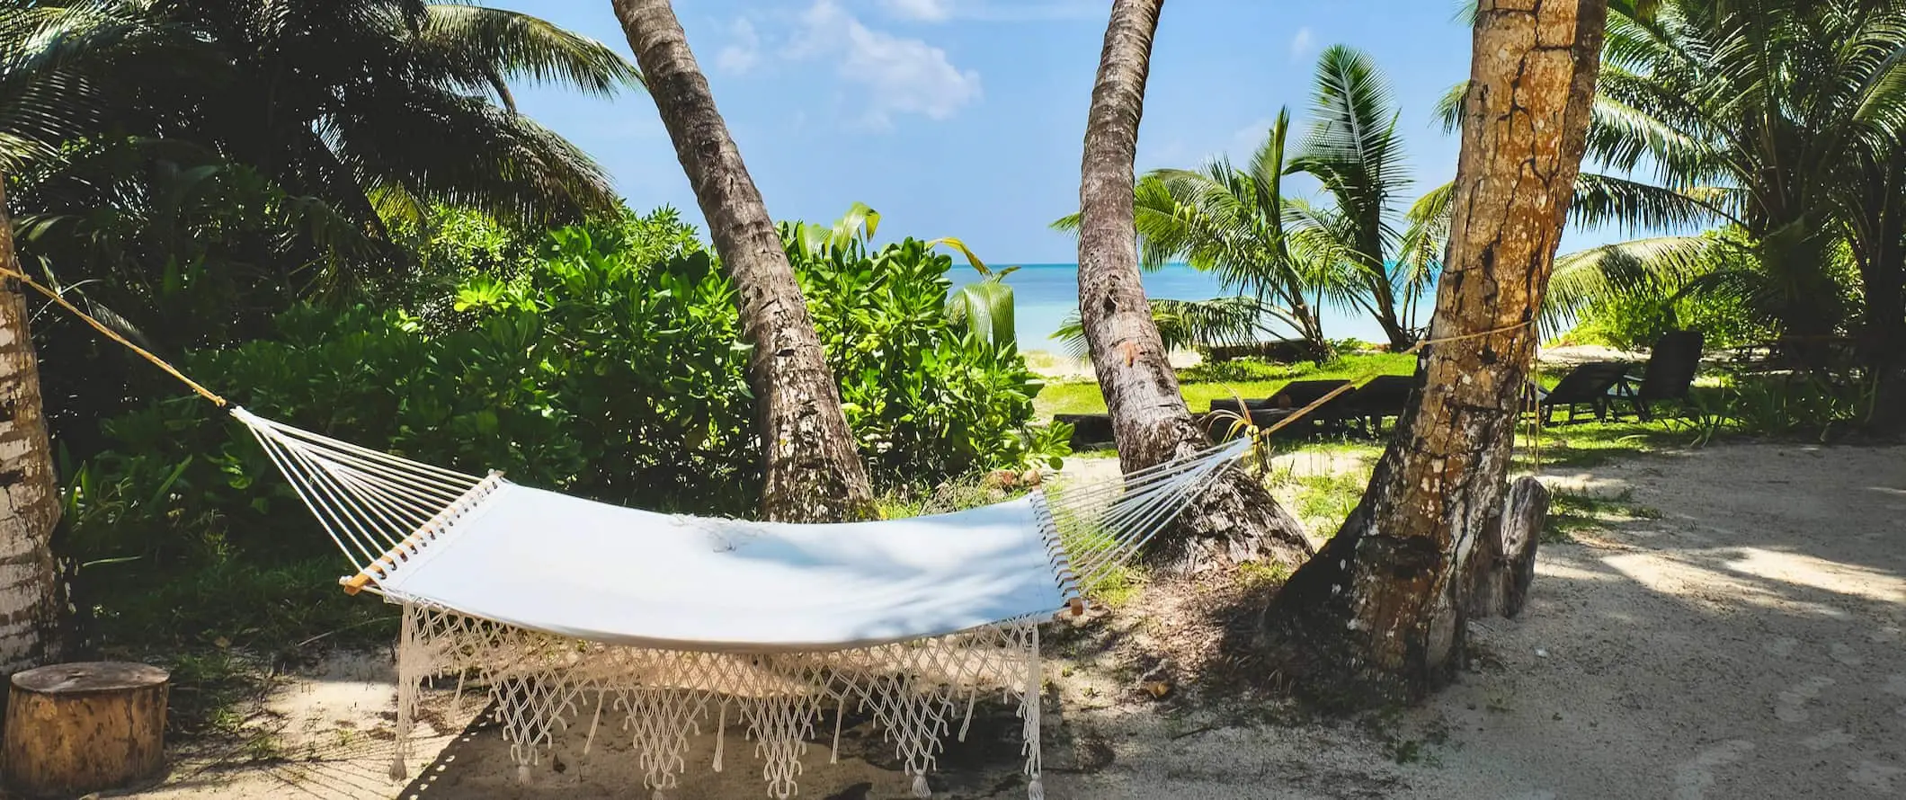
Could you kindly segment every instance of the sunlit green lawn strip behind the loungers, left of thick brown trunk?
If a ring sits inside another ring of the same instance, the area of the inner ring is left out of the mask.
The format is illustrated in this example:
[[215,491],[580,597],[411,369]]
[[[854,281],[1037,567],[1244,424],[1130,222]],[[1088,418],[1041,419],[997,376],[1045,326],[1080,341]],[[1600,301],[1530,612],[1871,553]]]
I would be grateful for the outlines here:
[[[1355,379],[1376,375],[1409,375],[1416,371],[1416,356],[1407,352],[1370,352],[1344,356],[1328,364],[1266,364],[1266,362],[1227,362],[1195,366],[1178,371],[1178,385],[1186,394],[1191,411],[1205,411],[1212,400],[1229,398],[1233,392],[1247,398],[1267,398],[1277,394],[1290,381],[1311,379]],[[1098,383],[1048,383],[1033,398],[1033,408],[1041,419],[1056,413],[1105,413],[1105,396]]]

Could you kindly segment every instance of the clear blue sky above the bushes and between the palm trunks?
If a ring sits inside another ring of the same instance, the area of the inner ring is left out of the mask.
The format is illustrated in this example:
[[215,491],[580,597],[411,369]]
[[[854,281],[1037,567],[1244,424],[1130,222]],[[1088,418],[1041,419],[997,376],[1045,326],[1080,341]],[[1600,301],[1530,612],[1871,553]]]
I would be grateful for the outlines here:
[[[492,0],[627,51],[610,0]],[[1077,208],[1079,152],[1105,0],[677,0],[688,44],[776,219],[831,221],[860,200],[881,238],[961,236],[989,263],[1069,263],[1046,225]],[[1288,105],[1308,120],[1330,44],[1374,55],[1401,105],[1412,190],[1456,173],[1431,120],[1468,76],[1449,0],[1172,0],[1140,128],[1138,170],[1245,158]],[[644,95],[517,93],[616,177],[639,210],[694,194]],[[1306,187],[1308,189],[1308,187]],[[1563,250],[1607,236],[1571,234]]]

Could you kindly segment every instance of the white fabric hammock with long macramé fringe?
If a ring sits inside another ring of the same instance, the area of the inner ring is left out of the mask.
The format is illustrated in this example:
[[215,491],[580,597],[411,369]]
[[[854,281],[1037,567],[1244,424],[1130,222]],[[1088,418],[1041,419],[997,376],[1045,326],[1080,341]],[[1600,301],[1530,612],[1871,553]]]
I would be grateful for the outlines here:
[[709,718],[722,768],[732,718],[787,798],[814,722],[831,705],[839,747],[848,703],[928,796],[961,701],[970,718],[980,690],[1004,690],[1041,798],[1037,625],[1077,610],[1248,448],[953,514],[808,526],[621,509],[233,415],[356,566],[345,590],[404,608],[393,777],[421,680],[456,672],[459,693],[463,676],[488,684],[522,779],[583,716],[587,754],[608,709],[658,796]]

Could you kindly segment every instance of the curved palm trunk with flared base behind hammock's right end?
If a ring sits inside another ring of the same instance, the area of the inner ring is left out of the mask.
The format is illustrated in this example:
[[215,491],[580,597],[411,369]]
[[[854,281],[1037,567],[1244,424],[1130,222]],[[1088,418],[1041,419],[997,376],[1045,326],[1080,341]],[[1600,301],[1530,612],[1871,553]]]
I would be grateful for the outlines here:
[[[1079,185],[1079,320],[1105,392],[1119,465],[1130,472],[1205,448],[1138,278],[1132,158],[1165,0],[1115,0],[1105,25]],[[1178,571],[1311,552],[1304,528],[1243,469],[1227,469],[1147,558]]]

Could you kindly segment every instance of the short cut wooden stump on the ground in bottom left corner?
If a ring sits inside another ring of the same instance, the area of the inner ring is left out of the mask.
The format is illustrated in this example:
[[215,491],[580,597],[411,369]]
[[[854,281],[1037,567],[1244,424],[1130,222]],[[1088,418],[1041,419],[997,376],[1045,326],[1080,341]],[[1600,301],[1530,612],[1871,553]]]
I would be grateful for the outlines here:
[[166,690],[158,667],[90,661],[13,674],[6,785],[25,796],[80,796],[158,775]]

